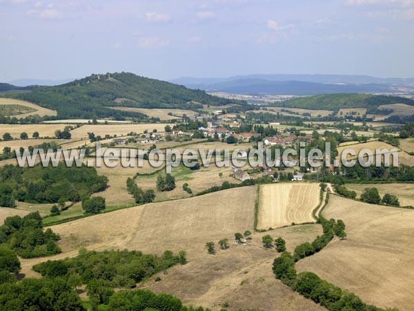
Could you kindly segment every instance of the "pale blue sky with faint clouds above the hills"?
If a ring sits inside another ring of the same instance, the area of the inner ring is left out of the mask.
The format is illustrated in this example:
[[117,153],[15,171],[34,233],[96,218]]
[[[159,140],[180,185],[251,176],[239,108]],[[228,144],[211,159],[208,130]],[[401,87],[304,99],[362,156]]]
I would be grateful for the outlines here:
[[0,82],[414,77],[414,0],[0,0]]

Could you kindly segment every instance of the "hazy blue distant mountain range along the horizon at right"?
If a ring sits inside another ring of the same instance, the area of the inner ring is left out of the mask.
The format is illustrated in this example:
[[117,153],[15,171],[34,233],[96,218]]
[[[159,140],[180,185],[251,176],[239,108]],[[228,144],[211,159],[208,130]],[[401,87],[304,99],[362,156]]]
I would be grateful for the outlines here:
[[238,75],[228,78],[181,77],[171,82],[207,92],[244,95],[319,95],[330,93],[411,93],[414,78],[366,75]]

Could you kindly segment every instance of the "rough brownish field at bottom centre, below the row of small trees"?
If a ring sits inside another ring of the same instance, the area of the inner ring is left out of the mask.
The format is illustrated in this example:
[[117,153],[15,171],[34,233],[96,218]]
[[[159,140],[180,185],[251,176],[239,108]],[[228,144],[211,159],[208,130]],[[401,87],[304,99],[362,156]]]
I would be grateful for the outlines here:
[[[157,274],[141,285],[155,292],[168,292],[188,305],[204,305],[211,310],[325,310],[313,301],[293,292],[275,279],[274,249],[262,247],[262,236],[271,234],[286,240],[287,249],[293,252],[296,245],[311,241],[321,228],[318,225],[299,225],[255,233],[247,245],[230,243],[228,249],[219,249],[215,255],[201,251],[190,254],[186,265]],[[233,236],[226,236],[230,241]],[[215,241],[217,243],[217,241]]]

